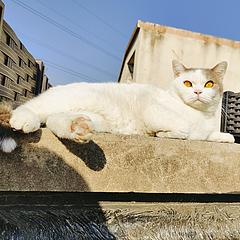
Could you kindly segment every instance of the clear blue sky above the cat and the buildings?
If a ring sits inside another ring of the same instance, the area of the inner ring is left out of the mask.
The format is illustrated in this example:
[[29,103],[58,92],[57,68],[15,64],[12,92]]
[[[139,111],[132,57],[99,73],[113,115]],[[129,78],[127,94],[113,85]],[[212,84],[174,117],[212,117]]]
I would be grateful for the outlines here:
[[[45,61],[53,85],[116,81],[138,19],[240,40],[239,0],[5,0],[4,4],[5,20],[33,56]],[[38,12],[31,13],[28,6]]]

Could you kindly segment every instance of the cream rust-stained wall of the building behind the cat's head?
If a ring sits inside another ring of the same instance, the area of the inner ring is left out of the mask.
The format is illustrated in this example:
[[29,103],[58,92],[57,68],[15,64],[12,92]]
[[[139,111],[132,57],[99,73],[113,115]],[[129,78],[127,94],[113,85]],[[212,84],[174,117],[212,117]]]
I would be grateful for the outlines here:
[[[188,67],[204,68],[227,61],[224,90],[240,91],[240,42],[143,22],[138,22],[137,29],[136,72],[132,81],[167,88],[173,79],[173,59]],[[126,54],[128,59],[131,50]],[[126,68],[127,61],[123,71]],[[124,77],[120,74],[120,82],[124,82]]]

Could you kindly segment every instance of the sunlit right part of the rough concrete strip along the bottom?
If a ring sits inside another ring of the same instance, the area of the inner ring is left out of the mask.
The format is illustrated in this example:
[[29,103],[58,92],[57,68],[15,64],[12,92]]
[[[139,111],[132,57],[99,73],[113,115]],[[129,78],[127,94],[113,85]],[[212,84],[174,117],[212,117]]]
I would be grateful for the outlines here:
[[103,206],[117,239],[240,239],[239,204],[116,204]]

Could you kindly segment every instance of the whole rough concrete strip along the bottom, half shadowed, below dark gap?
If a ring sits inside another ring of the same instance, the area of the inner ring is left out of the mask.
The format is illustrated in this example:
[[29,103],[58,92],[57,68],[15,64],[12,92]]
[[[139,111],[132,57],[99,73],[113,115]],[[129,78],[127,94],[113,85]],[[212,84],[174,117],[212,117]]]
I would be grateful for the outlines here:
[[1,239],[240,239],[239,204],[104,203],[0,208]]

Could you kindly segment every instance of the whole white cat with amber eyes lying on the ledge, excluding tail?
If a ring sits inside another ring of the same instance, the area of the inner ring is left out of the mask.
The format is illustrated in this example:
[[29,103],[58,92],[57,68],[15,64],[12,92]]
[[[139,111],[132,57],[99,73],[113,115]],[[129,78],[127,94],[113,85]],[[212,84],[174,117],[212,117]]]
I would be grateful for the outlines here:
[[216,124],[227,68],[188,69],[173,61],[169,91],[147,84],[74,83],[49,89],[13,111],[12,128],[25,133],[41,123],[58,137],[88,140],[92,132],[234,142]]

